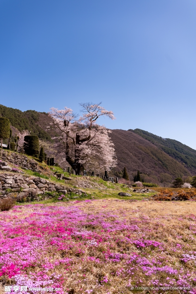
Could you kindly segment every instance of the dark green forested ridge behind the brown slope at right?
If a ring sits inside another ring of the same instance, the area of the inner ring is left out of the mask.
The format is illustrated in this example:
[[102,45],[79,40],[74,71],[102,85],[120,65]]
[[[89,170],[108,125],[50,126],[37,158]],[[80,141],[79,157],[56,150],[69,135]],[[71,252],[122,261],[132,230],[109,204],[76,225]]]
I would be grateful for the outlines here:
[[147,131],[143,131],[140,129],[129,130],[132,131],[144,139],[150,141],[159,149],[163,150],[172,158],[175,158],[180,163],[185,163],[185,166],[192,170],[196,168],[196,150],[186,146],[179,141],[169,139],[169,138],[161,138]]

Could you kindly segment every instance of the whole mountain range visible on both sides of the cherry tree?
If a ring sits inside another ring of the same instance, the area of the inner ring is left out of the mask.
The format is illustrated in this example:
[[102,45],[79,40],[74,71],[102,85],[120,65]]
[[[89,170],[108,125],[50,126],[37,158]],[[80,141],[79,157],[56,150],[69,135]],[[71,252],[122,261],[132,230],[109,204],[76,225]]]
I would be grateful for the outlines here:
[[[9,118],[11,125],[19,131],[28,129],[32,135],[51,141],[46,132],[46,123],[51,118],[45,112],[6,107],[0,104],[0,116]],[[145,182],[171,182],[175,177],[196,175],[196,150],[172,139],[161,138],[140,129],[112,130],[118,166],[113,174],[122,176],[126,167],[130,180],[137,171]]]

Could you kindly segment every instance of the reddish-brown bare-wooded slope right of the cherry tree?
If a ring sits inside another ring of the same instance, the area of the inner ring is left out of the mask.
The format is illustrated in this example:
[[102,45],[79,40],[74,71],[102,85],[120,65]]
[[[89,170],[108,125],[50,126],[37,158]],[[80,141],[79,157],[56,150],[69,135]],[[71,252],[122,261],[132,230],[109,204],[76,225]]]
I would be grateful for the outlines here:
[[[150,142],[140,136],[137,131],[112,130],[110,137],[115,145],[118,159],[118,166],[114,168],[114,173],[117,176],[122,176],[121,171],[124,166],[127,168],[131,180],[139,170],[142,173],[143,181],[146,182],[161,180],[171,182],[177,176],[187,177],[196,174],[196,169],[193,166],[190,169],[185,162],[183,162],[185,164],[179,162],[156,146],[155,142]],[[182,146],[184,145],[182,144]]]

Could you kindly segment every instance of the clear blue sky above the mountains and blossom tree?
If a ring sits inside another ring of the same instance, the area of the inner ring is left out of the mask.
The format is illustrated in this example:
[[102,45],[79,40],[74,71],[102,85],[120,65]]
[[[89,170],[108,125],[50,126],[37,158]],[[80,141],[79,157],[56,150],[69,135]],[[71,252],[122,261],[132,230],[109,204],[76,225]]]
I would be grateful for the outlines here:
[[0,0],[0,103],[102,101],[108,128],[196,149],[196,1]]

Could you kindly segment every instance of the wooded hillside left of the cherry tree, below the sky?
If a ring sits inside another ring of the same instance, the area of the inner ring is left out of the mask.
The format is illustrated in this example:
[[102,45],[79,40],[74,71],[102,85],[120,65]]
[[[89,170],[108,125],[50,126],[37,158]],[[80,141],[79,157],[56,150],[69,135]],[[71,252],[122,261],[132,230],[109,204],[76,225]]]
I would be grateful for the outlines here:
[[31,135],[36,135],[42,140],[51,140],[50,134],[45,131],[46,123],[51,119],[45,112],[35,110],[21,111],[0,104],[0,116],[9,118],[12,126],[19,131],[29,130]]

